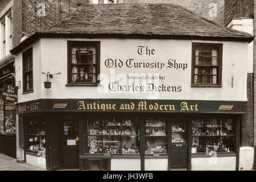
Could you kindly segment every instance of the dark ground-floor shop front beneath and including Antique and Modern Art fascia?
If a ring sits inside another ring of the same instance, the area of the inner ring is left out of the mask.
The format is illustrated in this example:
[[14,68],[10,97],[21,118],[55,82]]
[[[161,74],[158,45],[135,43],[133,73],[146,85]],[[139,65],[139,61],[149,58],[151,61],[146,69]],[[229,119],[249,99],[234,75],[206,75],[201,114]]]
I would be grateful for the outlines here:
[[17,113],[27,160],[47,169],[235,170],[242,106],[225,101],[42,99],[19,103]]

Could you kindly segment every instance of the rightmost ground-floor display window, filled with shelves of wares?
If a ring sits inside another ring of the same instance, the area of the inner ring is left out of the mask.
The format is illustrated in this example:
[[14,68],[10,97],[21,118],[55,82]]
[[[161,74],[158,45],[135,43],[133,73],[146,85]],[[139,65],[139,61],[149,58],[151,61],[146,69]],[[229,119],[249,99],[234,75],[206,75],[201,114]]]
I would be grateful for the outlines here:
[[233,119],[193,119],[192,153],[202,152],[234,152]]

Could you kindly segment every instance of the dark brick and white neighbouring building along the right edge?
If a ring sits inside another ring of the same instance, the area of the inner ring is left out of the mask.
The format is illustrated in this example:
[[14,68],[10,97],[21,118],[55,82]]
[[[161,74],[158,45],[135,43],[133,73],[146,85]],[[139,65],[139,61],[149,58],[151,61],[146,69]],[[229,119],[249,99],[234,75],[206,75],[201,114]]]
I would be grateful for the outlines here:
[[[233,28],[235,30],[248,32],[255,35],[254,23],[254,11],[255,1],[225,1],[225,26]],[[241,168],[247,169],[244,166],[248,166],[248,163],[253,162],[249,153],[254,152],[256,146],[256,125],[255,125],[255,41],[249,44],[248,52],[248,65],[247,65],[247,99],[246,114],[242,115],[242,146],[243,155],[247,156],[244,162],[241,162]],[[255,153],[256,154],[256,153]],[[250,164],[252,165],[252,164]],[[254,155],[254,166],[255,166],[255,155]]]

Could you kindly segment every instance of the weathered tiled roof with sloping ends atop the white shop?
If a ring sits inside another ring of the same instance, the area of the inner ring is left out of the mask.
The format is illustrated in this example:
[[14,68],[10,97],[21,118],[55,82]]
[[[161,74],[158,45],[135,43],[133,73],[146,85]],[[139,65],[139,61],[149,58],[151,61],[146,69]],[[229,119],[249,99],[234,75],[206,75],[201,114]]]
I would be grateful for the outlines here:
[[36,32],[22,44],[39,37],[201,39],[251,42],[253,35],[220,26],[173,4],[86,5],[45,32]]

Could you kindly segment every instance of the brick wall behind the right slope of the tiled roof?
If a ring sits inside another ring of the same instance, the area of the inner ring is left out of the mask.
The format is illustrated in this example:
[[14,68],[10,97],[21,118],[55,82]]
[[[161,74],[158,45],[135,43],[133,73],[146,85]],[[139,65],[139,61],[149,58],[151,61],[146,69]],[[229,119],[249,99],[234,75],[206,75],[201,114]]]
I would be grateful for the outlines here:
[[[124,0],[124,3],[174,3],[184,6],[207,19],[214,20],[219,24],[224,24],[224,0]],[[217,4],[217,16],[210,15],[210,3]]]

